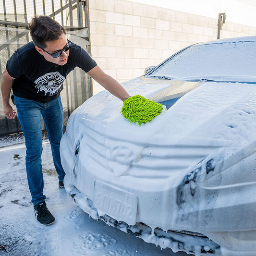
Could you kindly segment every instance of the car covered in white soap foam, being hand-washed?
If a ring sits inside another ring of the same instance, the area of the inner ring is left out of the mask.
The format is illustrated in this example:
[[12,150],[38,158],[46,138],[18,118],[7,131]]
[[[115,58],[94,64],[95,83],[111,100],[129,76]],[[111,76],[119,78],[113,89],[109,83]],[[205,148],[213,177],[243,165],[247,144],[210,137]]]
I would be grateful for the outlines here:
[[102,91],[70,116],[64,185],[94,219],[173,252],[255,256],[256,37],[197,43],[122,84],[166,106],[131,123]]

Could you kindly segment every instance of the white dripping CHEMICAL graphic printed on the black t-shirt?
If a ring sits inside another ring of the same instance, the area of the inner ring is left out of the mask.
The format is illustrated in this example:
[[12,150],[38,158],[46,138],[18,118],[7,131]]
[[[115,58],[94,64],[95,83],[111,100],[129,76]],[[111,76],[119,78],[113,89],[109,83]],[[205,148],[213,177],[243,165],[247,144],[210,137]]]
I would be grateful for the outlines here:
[[61,85],[64,81],[65,77],[59,72],[52,72],[37,78],[35,84],[38,92],[45,92],[45,95],[49,93],[49,96],[52,96],[61,90]]

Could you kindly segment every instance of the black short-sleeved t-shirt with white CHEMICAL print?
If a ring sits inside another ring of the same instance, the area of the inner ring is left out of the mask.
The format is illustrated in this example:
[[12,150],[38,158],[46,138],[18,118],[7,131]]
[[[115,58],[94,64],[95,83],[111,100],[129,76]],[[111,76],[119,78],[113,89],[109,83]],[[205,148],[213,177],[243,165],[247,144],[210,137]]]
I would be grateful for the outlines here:
[[67,63],[61,66],[47,61],[34,43],[29,42],[13,53],[7,61],[6,70],[15,78],[12,85],[15,96],[47,102],[60,95],[66,76],[75,67],[88,72],[95,66],[97,64],[89,54],[74,43]]

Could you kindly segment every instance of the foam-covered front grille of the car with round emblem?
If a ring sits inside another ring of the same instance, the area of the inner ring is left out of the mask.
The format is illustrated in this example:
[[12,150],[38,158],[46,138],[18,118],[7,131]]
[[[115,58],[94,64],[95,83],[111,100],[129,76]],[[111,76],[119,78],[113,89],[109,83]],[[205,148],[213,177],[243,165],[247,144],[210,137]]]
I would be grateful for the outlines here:
[[[167,178],[175,172],[195,166],[202,159],[230,144],[229,141],[186,138],[184,140],[156,135],[151,138],[141,134],[137,141],[129,132],[126,137],[107,134],[106,127],[82,119],[86,133],[82,138],[81,150],[86,150],[88,159],[92,158],[115,176],[133,175],[141,178]],[[128,139],[127,139],[128,138]],[[141,143],[146,141],[146,143]],[[83,149],[84,148],[84,149]]]

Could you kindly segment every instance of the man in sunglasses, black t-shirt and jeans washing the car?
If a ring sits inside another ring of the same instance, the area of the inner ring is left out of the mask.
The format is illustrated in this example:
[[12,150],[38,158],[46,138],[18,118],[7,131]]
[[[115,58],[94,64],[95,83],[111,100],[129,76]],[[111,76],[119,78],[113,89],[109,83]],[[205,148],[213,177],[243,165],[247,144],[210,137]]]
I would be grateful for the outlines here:
[[46,196],[43,195],[41,115],[59,175],[59,187],[63,188],[65,172],[60,159],[63,132],[60,92],[67,74],[80,67],[122,101],[129,94],[116,80],[105,74],[84,49],[68,40],[64,28],[52,18],[35,16],[29,29],[33,42],[17,49],[7,61],[1,78],[1,93],[4,114],[14,119],[16,112],[9,102],[11,89],[13,91],[25,137],[26,172],[34,211],[41,224],[49,225],[55,218],[49,212]]

